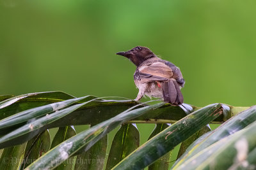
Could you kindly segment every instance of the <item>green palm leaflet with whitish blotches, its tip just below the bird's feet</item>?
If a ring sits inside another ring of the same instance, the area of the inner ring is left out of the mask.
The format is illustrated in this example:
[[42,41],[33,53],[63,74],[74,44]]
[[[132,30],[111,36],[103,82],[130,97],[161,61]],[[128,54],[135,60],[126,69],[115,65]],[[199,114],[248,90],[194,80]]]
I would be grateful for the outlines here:
[[159,103],[152,106],[138,108],[136,110],[129,109],[124,111],[123,113],[116,115],[116,117],[95,125],[56,146],[43,157],[33,162],[28,169],[50,169],[56,167],[64,160],[68,159],[68,157],[74,155],[78,150],[83,148],[83,150],[86,151],[91,148],[93,144],[108,134],[109,131],[115,129],[117,125],[127,122],[127,120],[131,120],[132,118],[136,118],[148,110],[159,108],[160,106],[163,106],[163,104],[164,103]]

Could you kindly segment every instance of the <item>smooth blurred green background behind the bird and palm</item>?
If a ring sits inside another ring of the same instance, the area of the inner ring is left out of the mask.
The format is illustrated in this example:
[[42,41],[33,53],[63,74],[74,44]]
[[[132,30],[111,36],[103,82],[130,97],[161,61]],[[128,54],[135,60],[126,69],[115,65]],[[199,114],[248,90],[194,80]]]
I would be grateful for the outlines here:
[[[61,90],[134,99],[135,66],[115,53],[141,45],[180,67],[185,103],[252,106],[255,7],[256,1],[0,0],[0,94]],[[138,125],[142,143],[153,127]]]

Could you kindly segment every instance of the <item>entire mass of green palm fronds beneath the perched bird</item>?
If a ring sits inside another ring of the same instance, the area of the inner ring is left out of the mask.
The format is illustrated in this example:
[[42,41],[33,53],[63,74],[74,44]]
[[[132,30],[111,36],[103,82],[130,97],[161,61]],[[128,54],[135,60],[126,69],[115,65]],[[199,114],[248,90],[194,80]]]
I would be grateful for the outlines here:
[[[252,130],[256,106],[211,104],[198,108],[189,104],[148,105],[130,99],[106,98],[111,97],[76,98],[63,92],[0,96],[1,169],[102,169],[105,166],[106,169],[143,169],[147,166],[168,169],[169,160],[176,159],[173,155],[170,157],[170,151],[179,143],[182,143],[180,158],[173,169],[182,169],[182,165],[188,169],[244,169],[244,161],[248,162],[248,168],[256,167],[255,132]],[[205,125],[211,122],[222,125],[210,131]],[[150,139],[139,148],[140,132],[132,125],[134,123],[157,124]],[[163,127],[168,123],[172,125]],[[91,127],[76,134],[69,125]],[[119,125],[122,127],[108,153],[108,133]],[[59,127],[59,131],[51,143],[45,130],[53,127]],[[238,136],[243,136],[243,141]],[[247,147],[246,156],[240,162],[237,162],[236,143]],[[6,157],[19,161],[6,163]],[[223,157],[232,159],[225,163],[221,162]],[[35,161],[31,163],[30,160]],[[211,163],[216,161],[220,164]]]

